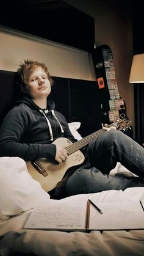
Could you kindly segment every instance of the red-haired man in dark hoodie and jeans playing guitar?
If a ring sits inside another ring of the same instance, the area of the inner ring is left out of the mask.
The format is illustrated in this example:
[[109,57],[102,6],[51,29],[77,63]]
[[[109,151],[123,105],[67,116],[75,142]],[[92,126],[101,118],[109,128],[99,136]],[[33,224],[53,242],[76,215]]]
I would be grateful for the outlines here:
[[[47,158],[52,163],[68,161],[63,145],[52,144],[59,137],[75,142],[68,123],[48,100],[52,78],[45,64],[24,60],[17,70],[23,97],[9,111],[0,130],[0,156],[19,156],[26,161]],[[85,161],[67,170],[52,198],[144,186],[144,149],[121,131],[101,134],[82,150]],[[120,162],[139,177],[110,177],[109,172]]]

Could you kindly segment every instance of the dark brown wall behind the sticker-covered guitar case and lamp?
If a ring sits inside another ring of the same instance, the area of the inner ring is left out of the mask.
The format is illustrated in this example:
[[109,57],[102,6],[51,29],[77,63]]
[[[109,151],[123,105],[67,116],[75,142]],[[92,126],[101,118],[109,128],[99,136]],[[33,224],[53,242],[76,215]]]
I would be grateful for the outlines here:
[[[133,56],[131,0],[65,0],[95,18],[95,43],[109,45],[113,53],[120,95],[126,101],[128,117],[134,120],[134,85],[129,84]],[[87,35],[85,35],[87,36]]]

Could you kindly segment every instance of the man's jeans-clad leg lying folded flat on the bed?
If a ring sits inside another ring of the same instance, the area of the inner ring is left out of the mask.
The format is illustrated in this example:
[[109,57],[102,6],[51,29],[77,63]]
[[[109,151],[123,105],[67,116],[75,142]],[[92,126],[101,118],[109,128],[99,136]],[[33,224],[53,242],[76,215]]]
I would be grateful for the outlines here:
[[110,189],[124,190],[131,187],[144,186],[144,178],[119,177],[102,174],[95,167],[78,169],[67,180],[65,196],[87,194]]

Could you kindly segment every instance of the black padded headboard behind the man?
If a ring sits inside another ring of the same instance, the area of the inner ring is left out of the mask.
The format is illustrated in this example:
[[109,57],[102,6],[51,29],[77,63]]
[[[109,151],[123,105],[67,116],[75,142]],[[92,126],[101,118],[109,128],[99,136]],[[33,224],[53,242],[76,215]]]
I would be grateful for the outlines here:
[[[99,130],[101,123],[106,120],[101,109],[104,91],[99,89],[97,82],[56,76],[52,78],[54,85],[49,99],[56,104],[56,110],[65,116],[67,122],[81,122],[79,132],[82,136]],[[15,80],[15,72],[0,70],[0,123],[20,94]]]

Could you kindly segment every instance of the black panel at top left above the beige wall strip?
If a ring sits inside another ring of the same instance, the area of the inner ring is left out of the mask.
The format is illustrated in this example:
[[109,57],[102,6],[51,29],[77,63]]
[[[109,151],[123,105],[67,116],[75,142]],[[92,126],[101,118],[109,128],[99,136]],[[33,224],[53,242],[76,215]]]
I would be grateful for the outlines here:
[[74,48],[94,48],[93,17],[60,0],[3,1],[0,24]]

